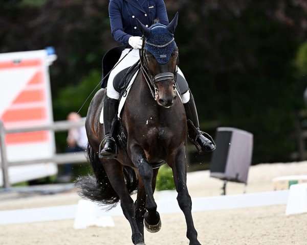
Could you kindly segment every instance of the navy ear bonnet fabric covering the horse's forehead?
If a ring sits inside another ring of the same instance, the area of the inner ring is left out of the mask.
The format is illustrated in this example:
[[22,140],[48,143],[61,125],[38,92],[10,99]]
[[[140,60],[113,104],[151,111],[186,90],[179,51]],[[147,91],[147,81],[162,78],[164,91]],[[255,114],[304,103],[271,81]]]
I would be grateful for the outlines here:
[[150,35],[146,38],[145,49],[159,64],[166,64],[176,47],[174,35],[161,23],[153,24],[149,29]]

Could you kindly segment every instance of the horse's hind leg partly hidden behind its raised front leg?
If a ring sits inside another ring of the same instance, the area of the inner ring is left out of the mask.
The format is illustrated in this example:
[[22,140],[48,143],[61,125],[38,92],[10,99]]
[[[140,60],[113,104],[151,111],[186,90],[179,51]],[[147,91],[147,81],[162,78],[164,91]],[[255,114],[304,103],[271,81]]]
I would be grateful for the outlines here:
[[[156,188],[156,179],[157,179],[158,169],[153,169],[153,177],[152,177],[152,191],[155,191]],[[144,237],[144,214],[146,212],[145,208],[146,203],[146,192],[144,188],[143,181],[141,177],[139,177],[139,187],[138,187],[138,196],[135,202],[135,210],[136,210],[136,222],[139,228],[139,231],[142,233]]]

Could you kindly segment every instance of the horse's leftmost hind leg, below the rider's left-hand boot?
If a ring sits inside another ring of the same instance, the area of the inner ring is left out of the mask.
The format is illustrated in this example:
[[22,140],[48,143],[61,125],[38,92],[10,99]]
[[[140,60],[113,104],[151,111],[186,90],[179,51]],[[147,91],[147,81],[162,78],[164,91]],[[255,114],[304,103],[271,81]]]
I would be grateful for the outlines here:
[[123,213],[128,219],[132,230],[132,241],[134,244],[144,244],[144,237],[138,229],[135,219],[135,206],[133,199],[127,190],[122,165],[117,160],[101,160],[103,167],[107,173],[107,177],[119,196],[120,205]]

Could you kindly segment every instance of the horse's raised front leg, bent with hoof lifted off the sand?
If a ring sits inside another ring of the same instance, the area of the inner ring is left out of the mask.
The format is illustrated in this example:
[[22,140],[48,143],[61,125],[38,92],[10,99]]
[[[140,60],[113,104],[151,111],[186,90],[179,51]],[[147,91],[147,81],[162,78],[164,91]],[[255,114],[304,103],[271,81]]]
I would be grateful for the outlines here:
[[149,232],[158,232],[161,228],[161,220],[160,215],[157,212],[157,204],[155,199],[153,199],[153,169],[149,165],[145,156],[145,152],[141,146],[137,144],[131,145],[129,154],[132,162],[135,164],[139,171],[139,175],[143,181],[146,193],[145,208],[148,212],[146,212],[144,215],[145,227]]

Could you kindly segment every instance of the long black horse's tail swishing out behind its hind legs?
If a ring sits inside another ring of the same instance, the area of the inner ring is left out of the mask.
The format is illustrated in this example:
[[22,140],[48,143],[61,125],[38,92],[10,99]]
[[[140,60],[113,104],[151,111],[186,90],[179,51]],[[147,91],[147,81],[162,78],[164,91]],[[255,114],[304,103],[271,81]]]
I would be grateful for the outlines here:
[[[79,195],[84,199],[97,202],[100,205],[109,205],[109,209],[116,206],[119,201],[118,194],[113,189],[98,154],[87,145],[87,160],[91,164],[94,176],[79,177],[75,183]],[[130,194],[138,188],[138,179],[135,171],[128,166],[123,167],[126,187]]]

